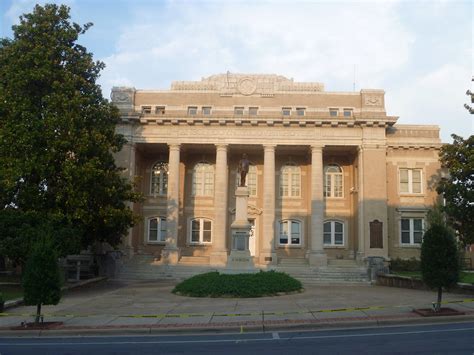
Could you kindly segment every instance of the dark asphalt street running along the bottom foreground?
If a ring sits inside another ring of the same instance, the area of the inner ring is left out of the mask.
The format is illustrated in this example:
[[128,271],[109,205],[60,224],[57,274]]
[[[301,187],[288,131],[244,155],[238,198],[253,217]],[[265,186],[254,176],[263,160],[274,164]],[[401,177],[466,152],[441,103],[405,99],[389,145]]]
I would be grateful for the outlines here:
[[244,334],[0,338],[0,354],[470,354],[474,322]]

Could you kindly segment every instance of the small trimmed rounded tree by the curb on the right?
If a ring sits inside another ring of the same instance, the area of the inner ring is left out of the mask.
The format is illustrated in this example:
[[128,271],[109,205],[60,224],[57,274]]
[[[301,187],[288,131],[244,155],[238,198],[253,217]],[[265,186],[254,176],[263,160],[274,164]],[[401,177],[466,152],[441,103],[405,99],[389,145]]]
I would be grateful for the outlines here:
[[[432,221],[437,219],[431,218]],[[428,287],[438,290],[435,311],[441,307],[443,287],[455,286],[459,272],[458,246],[452,231],[445,224],[432,224],[421,244],[421,275]]]

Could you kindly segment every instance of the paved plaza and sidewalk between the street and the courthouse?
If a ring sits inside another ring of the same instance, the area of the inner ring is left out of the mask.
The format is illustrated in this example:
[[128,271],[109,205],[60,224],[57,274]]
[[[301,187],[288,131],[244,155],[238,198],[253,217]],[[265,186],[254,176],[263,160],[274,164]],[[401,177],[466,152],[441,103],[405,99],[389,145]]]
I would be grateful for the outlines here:
[[107,281],[69,291],[57,306],[43,306],[50,330],[10,330],[31,322],[35,307],[9,309],[0,317],[0,336],[376,326],[474,319],[472,295],[445,293],[444,306],[463,316],[421,317],[436,294],[381,286],[306,285],[298,294],[262,298],[194,298],[171,293],[172,281]]

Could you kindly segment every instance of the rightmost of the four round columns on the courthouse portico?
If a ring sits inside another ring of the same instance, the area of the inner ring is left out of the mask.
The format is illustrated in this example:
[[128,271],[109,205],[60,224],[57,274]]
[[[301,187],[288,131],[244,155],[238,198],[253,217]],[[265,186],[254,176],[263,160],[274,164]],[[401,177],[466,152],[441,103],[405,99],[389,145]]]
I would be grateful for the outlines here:
[[311,248],[308,251],[310,265],[326,266],[327,256],[323,249],[324,184],[323,147],[311,146]]

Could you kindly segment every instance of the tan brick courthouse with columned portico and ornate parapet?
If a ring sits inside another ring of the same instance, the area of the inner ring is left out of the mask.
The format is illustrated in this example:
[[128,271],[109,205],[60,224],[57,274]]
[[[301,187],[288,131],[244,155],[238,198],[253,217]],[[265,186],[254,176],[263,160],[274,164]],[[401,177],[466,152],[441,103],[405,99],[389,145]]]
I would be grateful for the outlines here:
[[112,101],[128,140],[117,163],[144,195],[131,254],[226,265],[246,153],[256,267],[419,256],[437,198],[439,128],[397,124],[383,90],[228,73],[169,90],[115,87]]

